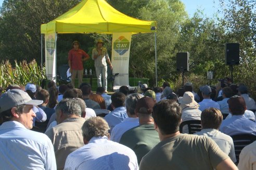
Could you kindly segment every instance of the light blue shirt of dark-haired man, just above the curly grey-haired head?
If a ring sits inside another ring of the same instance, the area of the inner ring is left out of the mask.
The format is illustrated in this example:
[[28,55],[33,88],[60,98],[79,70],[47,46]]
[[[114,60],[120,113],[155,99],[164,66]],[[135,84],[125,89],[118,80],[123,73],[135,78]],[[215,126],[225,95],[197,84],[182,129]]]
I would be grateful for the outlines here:
[[108,122],[110,127],[109,133],[111,133],[112,129],[118,123],[123,122],[125,118],[127,118],[126,108],[125,107],[118,107],[111,111],[108,115],[105,116],[105,120]]

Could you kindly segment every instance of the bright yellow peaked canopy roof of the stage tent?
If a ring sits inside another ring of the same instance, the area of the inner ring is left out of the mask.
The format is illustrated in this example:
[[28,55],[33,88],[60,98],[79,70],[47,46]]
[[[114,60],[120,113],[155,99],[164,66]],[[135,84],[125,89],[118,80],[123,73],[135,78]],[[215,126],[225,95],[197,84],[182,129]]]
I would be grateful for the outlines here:
[[41,25],[41,33],[155,32],[156,21],[142,21],[124,15],[104,0],[83,0],[63,15]]

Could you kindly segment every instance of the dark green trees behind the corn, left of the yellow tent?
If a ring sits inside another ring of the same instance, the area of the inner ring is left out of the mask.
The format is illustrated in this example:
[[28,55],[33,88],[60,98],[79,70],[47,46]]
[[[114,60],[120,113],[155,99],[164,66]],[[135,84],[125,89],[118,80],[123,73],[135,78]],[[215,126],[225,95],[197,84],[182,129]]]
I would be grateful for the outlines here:
[[78,0],[5,0],[0,10],[0,58],[41,61],[40,26],[66,12]]

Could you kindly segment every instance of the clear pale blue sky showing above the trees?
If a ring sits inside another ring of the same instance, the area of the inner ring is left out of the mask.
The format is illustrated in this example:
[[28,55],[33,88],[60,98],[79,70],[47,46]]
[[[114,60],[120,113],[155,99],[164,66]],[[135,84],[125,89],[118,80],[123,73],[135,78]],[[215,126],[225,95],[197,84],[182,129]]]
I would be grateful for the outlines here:
[[[2,6],[4,0],[0,0],[0,6]],[[203,10],[207,17],[212,17],[217,12],[217,4],[214,4],[214,0],[181,0],[185,6],[186,11],[190,17],[196,12],[197,8]],[[216,1],[216,0],[215,0]],[[218,2],[218,1],[216,1]]]

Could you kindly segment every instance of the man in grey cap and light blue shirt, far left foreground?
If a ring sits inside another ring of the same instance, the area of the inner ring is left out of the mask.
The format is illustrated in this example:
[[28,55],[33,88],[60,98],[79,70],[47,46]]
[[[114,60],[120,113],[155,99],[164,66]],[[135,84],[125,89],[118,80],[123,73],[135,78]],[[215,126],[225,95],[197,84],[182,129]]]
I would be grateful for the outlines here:
[[8,90],[0,97],[0,164],[1,169],[56,169],[50,139],[31,131],[35,113],[28,93]]

